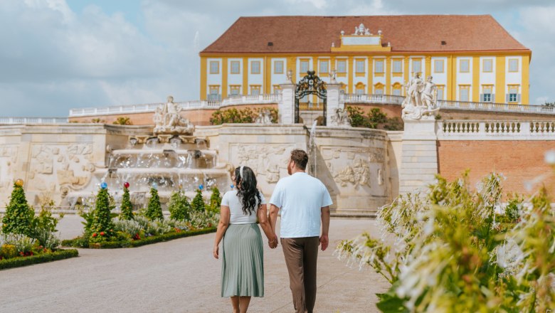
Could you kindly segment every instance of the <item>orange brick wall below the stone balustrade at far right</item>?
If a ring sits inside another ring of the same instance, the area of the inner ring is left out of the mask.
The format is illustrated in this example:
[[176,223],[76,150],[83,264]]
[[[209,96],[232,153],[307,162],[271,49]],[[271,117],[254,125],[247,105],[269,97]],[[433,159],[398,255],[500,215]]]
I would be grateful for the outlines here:
[[438,141],[438,171],[441,176],[453,180],[465,169],[470,169],[472,187],[492,171],[502,173],[507,178],[503,183],[504,194],[529,194],[525,182],[553,172],[554,175],[535,184],[532,191],[541,184],[555,191],[555,171],[544,161],[544,154],[550,149],[555,149],[555,141]]

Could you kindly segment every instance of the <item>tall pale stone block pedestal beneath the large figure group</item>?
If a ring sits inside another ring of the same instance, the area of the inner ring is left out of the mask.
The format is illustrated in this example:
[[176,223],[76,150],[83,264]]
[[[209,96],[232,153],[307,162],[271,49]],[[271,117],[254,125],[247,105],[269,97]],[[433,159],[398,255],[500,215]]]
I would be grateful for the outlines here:
[[399,193],[425,191],[438,174],[435,120],[405,120]]

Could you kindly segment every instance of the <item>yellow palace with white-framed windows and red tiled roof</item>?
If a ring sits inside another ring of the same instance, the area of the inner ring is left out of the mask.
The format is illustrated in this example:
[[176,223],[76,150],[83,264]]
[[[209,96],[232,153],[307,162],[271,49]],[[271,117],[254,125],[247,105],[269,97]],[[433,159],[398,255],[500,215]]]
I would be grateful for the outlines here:
[[489,15],[242,17],[201,51],[200,97],[276,93],[314,70],[349,94],[404,95],[418,73],[439,100],[527,105],[531,56]]

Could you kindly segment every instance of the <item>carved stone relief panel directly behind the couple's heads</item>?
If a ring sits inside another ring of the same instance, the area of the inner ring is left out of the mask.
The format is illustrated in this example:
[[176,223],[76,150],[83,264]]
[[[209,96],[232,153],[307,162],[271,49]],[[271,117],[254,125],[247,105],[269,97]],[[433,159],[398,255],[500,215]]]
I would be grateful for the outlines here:
[[233,166],[248,166],[255,172],[258,181],[275,184],[281,172],[287,171],[290,150],[288,144],[231,144],[229,159]]

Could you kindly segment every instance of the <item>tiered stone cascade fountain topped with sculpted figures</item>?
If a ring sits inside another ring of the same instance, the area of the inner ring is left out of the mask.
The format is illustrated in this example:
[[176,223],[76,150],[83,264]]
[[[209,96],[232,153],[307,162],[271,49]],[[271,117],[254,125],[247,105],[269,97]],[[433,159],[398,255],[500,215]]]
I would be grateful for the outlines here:
[[230,166],[218,163],[218,153],[209,149],[207,138],[193,136],[194,126],[179,115],[173,97],[157,109],[154,123],[152,134],[132,135],[127,147],[107,149],[107,167],[95,171],[90,183],[93,186],[68,193],[69,206],[86,203],[93,196],[95,185],[102,182],[116,203],[120,202],[123,184],[128,182],[137,207],[146,205],[152,186],[157,186],[162,202],[176,189],[192,198],[201,184],[208,193],[213,187],[226,190],[231,181]]

